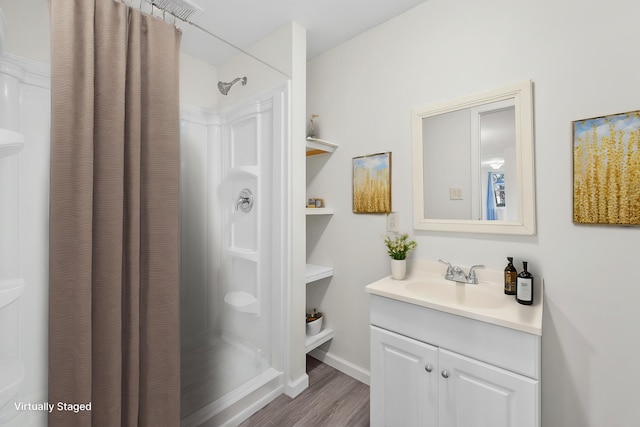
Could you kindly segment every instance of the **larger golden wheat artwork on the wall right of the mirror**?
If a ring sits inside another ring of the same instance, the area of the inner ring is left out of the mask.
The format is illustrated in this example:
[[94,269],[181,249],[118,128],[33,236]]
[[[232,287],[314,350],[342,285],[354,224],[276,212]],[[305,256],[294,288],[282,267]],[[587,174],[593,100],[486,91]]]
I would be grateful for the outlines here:
[[573,222],[640,225],[640,111],[573,122]]

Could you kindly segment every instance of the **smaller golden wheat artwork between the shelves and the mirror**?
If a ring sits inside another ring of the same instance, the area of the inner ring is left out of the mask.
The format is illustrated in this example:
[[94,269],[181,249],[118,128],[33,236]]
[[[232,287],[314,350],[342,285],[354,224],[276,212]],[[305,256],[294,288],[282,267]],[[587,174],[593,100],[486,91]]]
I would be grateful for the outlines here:
[[353,158],[353,212],[391,212],[391,152]]

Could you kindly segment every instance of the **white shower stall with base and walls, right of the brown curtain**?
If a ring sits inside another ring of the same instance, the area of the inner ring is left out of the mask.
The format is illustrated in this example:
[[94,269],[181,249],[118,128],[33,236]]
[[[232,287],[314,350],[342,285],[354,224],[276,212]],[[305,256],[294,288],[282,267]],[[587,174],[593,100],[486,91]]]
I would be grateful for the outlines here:
[[283,389],[287,99],[284,84],[182,108],[184,426],[242,419]]

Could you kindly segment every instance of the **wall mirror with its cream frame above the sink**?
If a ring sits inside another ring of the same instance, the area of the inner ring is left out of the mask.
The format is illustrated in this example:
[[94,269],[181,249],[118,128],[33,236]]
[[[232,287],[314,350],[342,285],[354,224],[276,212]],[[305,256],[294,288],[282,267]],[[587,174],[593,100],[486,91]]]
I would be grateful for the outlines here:
[[412,111],[418,230],[535,234],[530,81]]

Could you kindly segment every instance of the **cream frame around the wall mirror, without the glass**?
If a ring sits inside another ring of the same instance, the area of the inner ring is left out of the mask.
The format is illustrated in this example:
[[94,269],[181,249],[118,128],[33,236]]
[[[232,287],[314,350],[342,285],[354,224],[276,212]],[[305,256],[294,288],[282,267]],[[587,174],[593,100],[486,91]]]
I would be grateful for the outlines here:
[[[477,95],[445,102],[411,112],[413,140],[413,227],[416,230],[455,231],[534,235],[535,176],[533,152],[533,96],[531,81],[495,89]],[[455,220],[424,217],[423,119],[483,104],[513,99],[516,118],[516,185],[518,190],[518,220]]]

